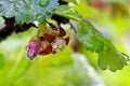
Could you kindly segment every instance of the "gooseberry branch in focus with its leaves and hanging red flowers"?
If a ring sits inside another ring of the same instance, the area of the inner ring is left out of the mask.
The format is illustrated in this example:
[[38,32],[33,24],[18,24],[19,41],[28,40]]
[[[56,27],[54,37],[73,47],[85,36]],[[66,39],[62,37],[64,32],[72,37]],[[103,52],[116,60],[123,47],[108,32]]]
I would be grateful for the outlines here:
[[[38,55],[63,51],[69,43],[69,37],[61,24],[69,24],[87,51],[98,54],[101,69],[116,71],[128,64],[129,56],[117,51],[91,22],[68,3],[78,4],[76,0],[0,0],[0,16],[4,19],[0,26],[0,41],[12,32],[35,27],[38,31],[30,38],[26,49],[27,57],[32,60]],[[76,29],[70,20],[77,23]]]

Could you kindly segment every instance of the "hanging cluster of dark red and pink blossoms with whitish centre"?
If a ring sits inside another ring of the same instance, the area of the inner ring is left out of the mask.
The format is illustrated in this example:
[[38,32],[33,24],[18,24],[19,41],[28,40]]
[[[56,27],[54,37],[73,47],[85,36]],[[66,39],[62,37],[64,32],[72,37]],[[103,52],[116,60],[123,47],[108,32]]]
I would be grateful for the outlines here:
[[27,46],[27,57],[32,60],[37,55],[55,54],[63,51],[69,42],[69,37],[65,37],[65,30],[58,26],[50,24],[51,30],[43,32],[37,39],[31,39]]

